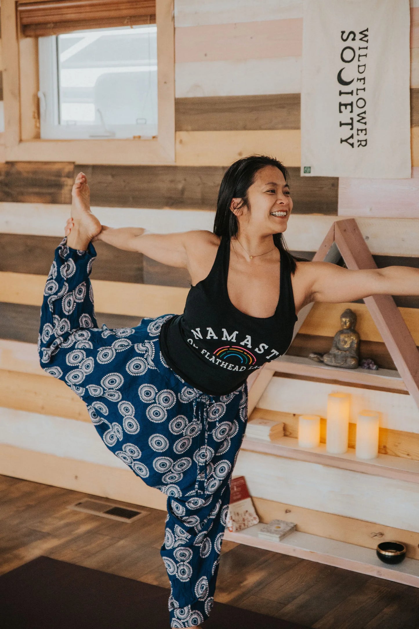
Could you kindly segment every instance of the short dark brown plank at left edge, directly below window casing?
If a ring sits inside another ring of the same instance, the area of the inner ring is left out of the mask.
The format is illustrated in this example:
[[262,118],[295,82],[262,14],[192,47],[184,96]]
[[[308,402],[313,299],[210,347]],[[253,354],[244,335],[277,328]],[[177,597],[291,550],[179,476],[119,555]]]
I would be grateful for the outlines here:
[[0,201],[71,203],[73,164],[7,162],[0,164]]

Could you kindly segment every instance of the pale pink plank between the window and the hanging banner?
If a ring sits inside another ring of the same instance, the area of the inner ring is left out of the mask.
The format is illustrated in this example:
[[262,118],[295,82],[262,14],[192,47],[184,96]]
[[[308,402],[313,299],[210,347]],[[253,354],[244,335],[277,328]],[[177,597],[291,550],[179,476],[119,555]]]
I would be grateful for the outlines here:
[[[238,9],[239,10],[239,9]],[[175,30],[176,62],[300,57],[303,20],[273,19]]]

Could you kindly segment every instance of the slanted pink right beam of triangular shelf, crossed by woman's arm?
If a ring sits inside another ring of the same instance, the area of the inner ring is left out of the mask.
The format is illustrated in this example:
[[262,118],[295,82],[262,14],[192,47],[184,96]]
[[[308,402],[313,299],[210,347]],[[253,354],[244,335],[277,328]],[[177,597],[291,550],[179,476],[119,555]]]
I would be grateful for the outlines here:
[[[335,222],[335,242],[348,269],[376,269],[354,218]],[[372,295],[364,302],[408,391],[419,406],[419,351],[391,295]]]

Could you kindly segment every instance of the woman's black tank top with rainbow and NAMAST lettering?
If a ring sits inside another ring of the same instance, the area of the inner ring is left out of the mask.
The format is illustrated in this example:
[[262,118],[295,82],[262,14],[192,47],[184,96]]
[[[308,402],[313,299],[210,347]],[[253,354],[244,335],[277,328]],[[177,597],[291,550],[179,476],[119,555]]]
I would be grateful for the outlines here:
[[263,318],[246,315],[231,303],[229,260],[230,239],[223,236],[209,275],[191,284],[183,315],[165,321],[159,337],[169,367],[209,395],[235,391],[255,369],[285,353],[297,321],[285,255],[281,254],[275,313]]

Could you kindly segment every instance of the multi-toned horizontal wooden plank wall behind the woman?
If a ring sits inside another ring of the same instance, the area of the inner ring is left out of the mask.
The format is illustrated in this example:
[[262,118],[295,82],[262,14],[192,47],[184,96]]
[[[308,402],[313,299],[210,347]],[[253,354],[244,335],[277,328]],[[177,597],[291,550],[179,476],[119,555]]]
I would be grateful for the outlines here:
[[[228,165],[248,153],[269,153],[290,169],[294,215],[286,239],[291,250],[311,259],[332,221],[356,216],[379,267],[419,267],[419,0],[411,1],[412,179],[394,181],[300,177],[302,3],[242,0],[237,7],[237,0],[175,0],[176,165],[0,165],[0,473],[26,474],[40,482],[164,508],[162,494],[139,479],[134,487],[131,476],[129,483],[129,470],[97,441],[84,404],[38,364],[41,288],[70,212],[73,177],[79,170],[89,177],[92,205],[105,224],[161,231],[212,229]],[[99,325],[133,326],[141,316],[182,311],[190,284],[183,270],[104,243],[95,246],[92,280]],[[116,299],[121,294],[124,299]],[[419,298],[397,298],[396,303],[419,346]],[[307,356],[329,350],[339,314],[347,306],[359,318],[361,357],[394,369],[362,303],[316,304],[289,353]],[[324,416],[327,392],[334,387],[277,374],[256,410],[286,416],[288,434],[295,437],[297,414]],[[392,455],[418,460],[419,412],[410,396],[378,387],[348,389],[356,399],[354,408],[381,409],[381,451],[388,448]],[[281,515],[275,504],[281,505],[278,509],[285,504],[298,508],[305,521],[310,513],[320,513],[315,528],[305,524],[304,530],[318,534],[324,526],[324,535],[335,539],[343,538],[342,522],[349,517],[351,530],[362,535],[369,521],[418,530],[416,507],[404,512],[406,501],[417,504],[411,484],[370,482],[349,470],[335,475],[332,468],[322,472],[313,464],[281,465],[273,459],[241,453],[237,464],[237,473],[245,474],[250,465],[251,491],[258,504],[271,505],[263,511],[265,520]],[[294,477],[298,491],[293,485],[287,488],[286,480],[277,491],[282,477]],[[346,503],[331,499],[337,495],[347,496]],[[340,524],[332,526],[331,521]],[[354,543],[362,535],[355,533]]]

